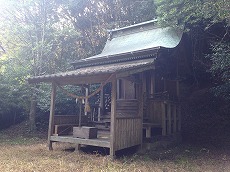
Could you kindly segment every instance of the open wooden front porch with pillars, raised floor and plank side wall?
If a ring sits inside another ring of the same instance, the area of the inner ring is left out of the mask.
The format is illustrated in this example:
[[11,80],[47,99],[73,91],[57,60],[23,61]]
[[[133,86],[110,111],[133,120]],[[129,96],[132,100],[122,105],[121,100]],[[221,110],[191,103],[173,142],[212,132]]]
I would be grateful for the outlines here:
[[[129,71],[131,72],[131,71]],[[127,72],[125,72],[127,73]],[[125,73],[122,75],[125,76]],[[121,74],[121,73],[120,73]],[[136,99],[117,99],[117,75],[111,77],[111,118],[110,118],[110,130],[106,133],[105,131],[101,134],[98,132],[98,137],[95,139],[81,139],[74,138],[70,135],[58,135],[57,126],[64,126],[65,124],[58,123],[55,118],[55,98],[57,82],[52,82],[52,94],[51,94],[51,108],[50,108],[50,119],[49,119],[49,132],[48,132],[48,143],[49,149],[52,149],[53,142],[69,142],[75,144],[92,145],[99,147],[110,148],[110,155],[114,156],[115,151],[124,148],[136,146],[142,144],[142,114],[143,114],[143,96],[142,85],[137,85],[137,97]],[[103,76],[96,76],[94,78],[100,78],[97,81],[101,82]],[[87,77],[84,80],[88,80]],[[82,80],[81,80],[82,81]],[[60,82],[60,81],[59,81]],[[66,82],[66,81],[65,81]],[[75,84],[78,81],[76,80]],[[102,81],[103,83],[103,81]],[[73,80],[71,81],[73,84]],[[86,84],[86,83],[84,83]],[[87,83],[88,84],[88,83]],[[65,118],[65,116],[63,116]],[[67,116],[66,116],[67,118]],[[62,120],[63,121],[63,120]],[[82,121],[85,125],[87,122]],[[69,124],[68,124],[69,125]],[[78,121],[72,126],[78,126]]]

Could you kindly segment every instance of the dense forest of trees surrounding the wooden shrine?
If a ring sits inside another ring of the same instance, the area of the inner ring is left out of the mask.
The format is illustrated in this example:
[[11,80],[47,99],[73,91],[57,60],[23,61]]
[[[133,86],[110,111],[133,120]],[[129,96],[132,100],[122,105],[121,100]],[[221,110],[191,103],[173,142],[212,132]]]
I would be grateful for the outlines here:
[[[228,0],[0,3],[0,128],[30,119],[30,130],[39,129],[48,117],[50,86],[29,85],[28,77],[71,70],[71,62],[100,53],[107,29],[152,19],[161,26],[183,28],[192,46],[193,73],[183,105],[186,135],[230,128]],[[60,113],[75,104],[63,100],[57,102]]]

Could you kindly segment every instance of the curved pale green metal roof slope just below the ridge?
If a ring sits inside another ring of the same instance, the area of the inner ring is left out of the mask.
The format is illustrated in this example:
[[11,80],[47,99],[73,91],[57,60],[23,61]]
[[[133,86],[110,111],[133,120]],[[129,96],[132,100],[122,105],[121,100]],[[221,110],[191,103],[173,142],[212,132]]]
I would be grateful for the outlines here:
[[181,35],[172,28],[157,28],[122,35],[108,40],[101,55],[108,56],[157,47],[174,48],[179,44]]

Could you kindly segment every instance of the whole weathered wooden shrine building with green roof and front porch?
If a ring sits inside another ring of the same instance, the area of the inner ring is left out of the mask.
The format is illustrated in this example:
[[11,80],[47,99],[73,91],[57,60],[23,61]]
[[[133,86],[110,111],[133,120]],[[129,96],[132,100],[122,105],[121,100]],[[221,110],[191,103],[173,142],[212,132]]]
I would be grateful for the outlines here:
[[[162,136],[180,132],[179,78],[186,68],[185,49],[182,31],[148,21],[109,31],[102,53],[74,62],[72,71],[29,78],[31,84],[52,83],[49,148],[53,142],[69,142],[107,147],[114,156],[117,150],[141,146],[143,137],[154,137],[153,128]],[[93,84],[96,90],[89,89]],[[98,96],[98,102],[87,102],[88,113],[55,115],[57,89],[74,97],[64,90],[66,85],[84,86],[86,96],[76,95],[78,100]],[[61,133],[65,126],[72,132]],[[93,136],[82,138],[75,132]]]

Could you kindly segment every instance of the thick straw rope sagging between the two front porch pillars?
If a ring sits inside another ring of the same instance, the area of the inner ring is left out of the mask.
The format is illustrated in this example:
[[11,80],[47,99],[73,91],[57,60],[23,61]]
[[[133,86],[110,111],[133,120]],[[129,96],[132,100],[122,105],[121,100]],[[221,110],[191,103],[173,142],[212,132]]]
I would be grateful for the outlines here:
[[88,96],[77,96],[73,93],[68,92],[67,90],[65,90],[62,86],[60,86],[58,83],[56,83],[56,85],[68,96],[75,98],[75,99],[89,99],[90,97],[96,95],[97,93],[99,93],[103,87],[110,81],[110,79],[114,76],[115,74],[111,74],[108,79],[106,79],[106,81],[104,83],[101,83],[100,87],[98,87],[98,89],[96,91],[94,91],[93,93],[91,93]]

